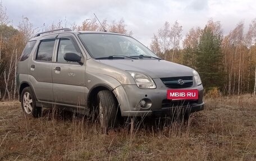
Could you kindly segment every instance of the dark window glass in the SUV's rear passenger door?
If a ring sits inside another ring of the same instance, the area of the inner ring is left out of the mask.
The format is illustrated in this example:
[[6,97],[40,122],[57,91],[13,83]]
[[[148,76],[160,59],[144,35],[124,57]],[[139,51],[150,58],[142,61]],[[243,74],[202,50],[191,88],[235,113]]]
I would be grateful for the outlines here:
[[36,54],[37,61],[51,62],[55,39],[42,40]]

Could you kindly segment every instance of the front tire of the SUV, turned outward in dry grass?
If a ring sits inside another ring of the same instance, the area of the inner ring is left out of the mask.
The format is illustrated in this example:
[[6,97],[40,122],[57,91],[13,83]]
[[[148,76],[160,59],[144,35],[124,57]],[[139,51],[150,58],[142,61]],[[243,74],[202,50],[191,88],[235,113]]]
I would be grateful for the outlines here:
[[117,126],[117,102],[111,91],[102,90],[98,92],[97,109],[98,121],[104,132]]

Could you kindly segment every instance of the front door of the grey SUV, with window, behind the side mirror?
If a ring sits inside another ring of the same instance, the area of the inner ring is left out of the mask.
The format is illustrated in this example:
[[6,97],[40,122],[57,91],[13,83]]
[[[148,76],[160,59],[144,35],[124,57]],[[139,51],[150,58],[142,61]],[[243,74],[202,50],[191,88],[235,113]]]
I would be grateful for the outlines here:
[[84,56],[75,38],[71,35],[59,35],[57,44],[55,62],[52,66],[54,101],[84,107],[85,63],[67,62],[64,55],[65,53],[75,53],[81,56],[82,60],[84,60]]

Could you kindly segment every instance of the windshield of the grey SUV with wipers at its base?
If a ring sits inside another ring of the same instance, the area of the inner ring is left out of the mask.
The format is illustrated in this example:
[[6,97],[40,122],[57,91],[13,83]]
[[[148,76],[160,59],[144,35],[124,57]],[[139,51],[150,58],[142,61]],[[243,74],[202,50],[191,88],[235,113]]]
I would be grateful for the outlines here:
[[116,34],[79,34],[88,52],[95,59],[109,56],[150,56],[157,57],[137,40]]

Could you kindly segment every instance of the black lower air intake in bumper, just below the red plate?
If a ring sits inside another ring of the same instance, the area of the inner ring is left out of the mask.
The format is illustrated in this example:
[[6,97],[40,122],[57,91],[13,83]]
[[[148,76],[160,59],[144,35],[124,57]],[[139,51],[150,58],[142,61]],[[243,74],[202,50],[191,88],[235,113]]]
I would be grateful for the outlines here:
[[170,100],[164,99],[162,101],[162,108],[169,107],[190,107],[193,103],[198,103],[198,100]]

